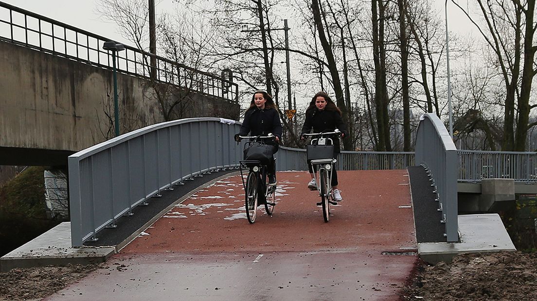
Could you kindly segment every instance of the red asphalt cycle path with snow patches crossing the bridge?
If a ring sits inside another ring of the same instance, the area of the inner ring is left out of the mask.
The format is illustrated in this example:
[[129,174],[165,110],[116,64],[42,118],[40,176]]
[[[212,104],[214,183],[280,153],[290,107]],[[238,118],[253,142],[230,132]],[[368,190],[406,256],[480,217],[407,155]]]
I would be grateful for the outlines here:
[[339,178],[328,223],[309,174],[279,172],[274,214],[254,224],[240,176],[223,179],[46,300],[397,300],[417,261],[397,254],[416,249],[408,173]]

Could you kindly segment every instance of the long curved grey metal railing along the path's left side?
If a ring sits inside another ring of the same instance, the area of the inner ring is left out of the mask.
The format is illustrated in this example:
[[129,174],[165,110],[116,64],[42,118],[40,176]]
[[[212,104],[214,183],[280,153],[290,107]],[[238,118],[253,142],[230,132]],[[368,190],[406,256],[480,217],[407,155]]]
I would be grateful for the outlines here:
[[190,118],[144,127],[69,156],[71,243],[82,246],[173,184],[235,168],[239,123]]

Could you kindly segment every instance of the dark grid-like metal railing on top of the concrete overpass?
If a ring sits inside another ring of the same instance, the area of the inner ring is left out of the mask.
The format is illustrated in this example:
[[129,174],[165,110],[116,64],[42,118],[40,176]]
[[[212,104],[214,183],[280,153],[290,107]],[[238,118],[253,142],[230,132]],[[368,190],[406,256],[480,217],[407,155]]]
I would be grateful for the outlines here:
[[[0,40],[110,70],[113,65],[111,52],[103,49],[103,43],[111,39],[4,2],[0,2]],[[152,57],[156,60],[153,69]],[[145,79],[154,70],[157,82],[238,101],[234,82],[127,45],[125,51],[117,52],[117,70]]]

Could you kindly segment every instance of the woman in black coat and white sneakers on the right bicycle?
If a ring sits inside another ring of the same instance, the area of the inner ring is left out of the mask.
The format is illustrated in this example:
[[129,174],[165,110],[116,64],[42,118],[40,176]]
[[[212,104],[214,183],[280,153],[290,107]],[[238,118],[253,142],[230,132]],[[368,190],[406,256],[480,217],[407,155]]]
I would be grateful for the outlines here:
[[[348,134],[347,126],[343,122],[341,111],[325,92],[318,92],[311,99],[309,107],[306,109],[306,121],[304,121],[304,125],[302,126],[301,139],[304,139],[302,134],[309,133],[312,129],[314,133],[321,133],[323,131],[333,132],[333,130],[338,129],[342,132],[342,138],[345,138]],[[332,135],[330,138],[334,144],[333,158],[336,159],[340,153],[339,137],[337,135]],[[308,169],[311,174],[311,181],[308,183],[308,188],[315,190],[317,189],[315,171],[311,168],[309,162]],[[335,166],[332,170],[331,184],[333,189],[333,199],[335,201],[342,200],[341,191],[337,188],[338,180]]]

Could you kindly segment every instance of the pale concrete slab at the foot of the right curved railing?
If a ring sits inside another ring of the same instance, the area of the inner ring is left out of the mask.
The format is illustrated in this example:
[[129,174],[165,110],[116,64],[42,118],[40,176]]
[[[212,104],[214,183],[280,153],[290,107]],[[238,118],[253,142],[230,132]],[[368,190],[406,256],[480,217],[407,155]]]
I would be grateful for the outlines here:
[[458,243],[419,243],[419,257],[431,264],[450,262],[460,253],[516,251],[498,214],[459,215]]

